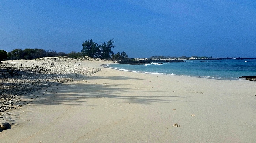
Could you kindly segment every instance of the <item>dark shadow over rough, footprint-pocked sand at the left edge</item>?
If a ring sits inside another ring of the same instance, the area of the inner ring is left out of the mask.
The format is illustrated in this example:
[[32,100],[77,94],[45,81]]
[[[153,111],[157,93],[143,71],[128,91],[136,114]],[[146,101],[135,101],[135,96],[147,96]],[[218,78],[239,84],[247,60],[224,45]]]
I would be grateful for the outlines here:
[[0,112],[13,110],[27,104],[21,100],[42,88],[58,86],[72,81],[81,74],[50,74],[42,67],[0,68]]

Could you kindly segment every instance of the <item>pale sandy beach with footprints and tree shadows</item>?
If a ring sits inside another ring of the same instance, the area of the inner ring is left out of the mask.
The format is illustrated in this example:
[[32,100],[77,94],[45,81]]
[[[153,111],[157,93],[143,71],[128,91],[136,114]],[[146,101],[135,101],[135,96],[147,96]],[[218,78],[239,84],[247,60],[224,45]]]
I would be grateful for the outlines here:
[[20,71],[1,73],[0,123],[11,129],[0,132],[0,143],[255,142],[255,81],[100,66],[108,63],[66,58],[1,63]]

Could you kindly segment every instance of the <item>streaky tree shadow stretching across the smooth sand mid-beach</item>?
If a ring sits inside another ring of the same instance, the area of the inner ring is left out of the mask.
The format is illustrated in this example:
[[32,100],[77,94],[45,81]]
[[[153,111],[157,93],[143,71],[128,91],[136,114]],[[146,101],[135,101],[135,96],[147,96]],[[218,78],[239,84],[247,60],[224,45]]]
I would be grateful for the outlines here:
[[[86,78],[86,77],[85,77]],[[109,79],[109,80],[143,80],[133,78],[129,76],[93,76],[93,79]],[[35,104],[46,104],[46,105],[78,105],[96,98],[115,98],[120,99],[126,103],[137,103],[137,104],[151,104],[151,103],[166,103],[171,101],[183,101],[188,96],[172,96],[172,93],[167,93],[163,96],[159,95],[160,92],[165,91],[145,91],[145,89],[138,89],[133,85],[128,84],[95,84],[89,83],[84,80],[84,83],[74,83],[70,85],[63,85],[56,89],[50,89],[45,92],[41,102],[35,102]],[[54,87],[53,87],[54,88]],[[57,89],[58,88],[58,89]]]

